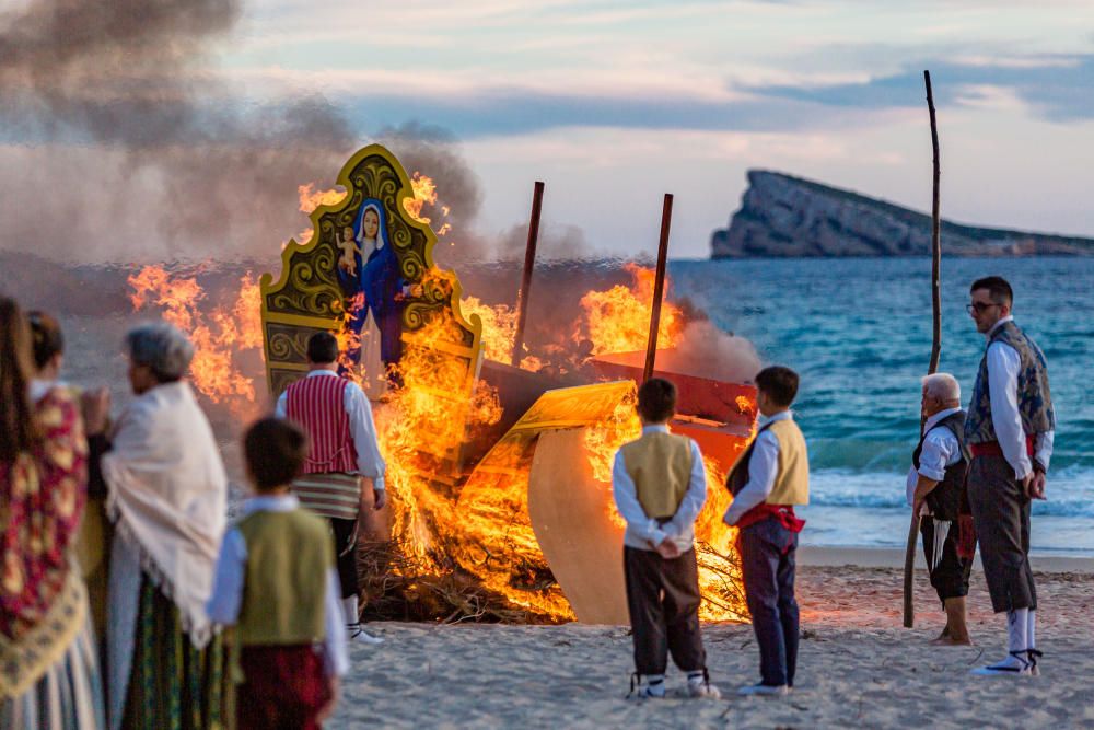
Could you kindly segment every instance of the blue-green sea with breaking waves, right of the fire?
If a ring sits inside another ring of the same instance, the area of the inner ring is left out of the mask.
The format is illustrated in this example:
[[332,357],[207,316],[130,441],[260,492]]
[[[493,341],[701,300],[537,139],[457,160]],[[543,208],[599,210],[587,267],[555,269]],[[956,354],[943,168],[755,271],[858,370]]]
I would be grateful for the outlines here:
[[[674,297],[801,374],[794,414],[810,451],[803,545],[904,546],[905,479],[932,343],[931,260],[671,262]],[[943,258],[942,354],[968,404],[985,348],[969,285],[1006,278],[1014,318],[1048,360],[1057,431],[1033,552],[1094,555],[1094,258]]]

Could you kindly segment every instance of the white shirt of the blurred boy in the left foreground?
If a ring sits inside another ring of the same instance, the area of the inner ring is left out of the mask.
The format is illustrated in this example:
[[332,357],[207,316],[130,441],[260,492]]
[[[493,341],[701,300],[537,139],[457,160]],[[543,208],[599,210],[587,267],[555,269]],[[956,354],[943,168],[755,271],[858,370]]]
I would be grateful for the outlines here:
[[[289,512],[300,507],[293,495],[252,497],[243,505],[243,517],[255,512]],[[213,576],[212,595],[206,604],[209,618],[223,626],[234,626],[240,619],[243,604],[243,581],[247,567],[247,543],[243,533],[232,528],[224,533],[217,572]],[[327,570],[327,586],[323,596],[325,649],[324,661],[327,676],[345,676],[349,671],[349,653],[346,649],[346,626],[342,622],[341,589],[335,568]]]

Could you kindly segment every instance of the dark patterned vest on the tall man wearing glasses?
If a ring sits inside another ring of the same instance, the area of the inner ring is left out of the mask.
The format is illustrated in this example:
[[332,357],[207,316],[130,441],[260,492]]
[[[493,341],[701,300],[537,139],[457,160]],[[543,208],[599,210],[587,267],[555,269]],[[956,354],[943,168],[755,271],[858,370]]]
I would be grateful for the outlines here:
[[[1014,322],[1004,322],[988,340],[1010,345],[1019,354],[1019,415],[1022,430],[1026,436],[1056,430],[1056,413],[1052,410],[1052,395],[1048,390],[1048,366],[1045,355],[1037,344]],[[965,419],[965,441],[969,444],[998,441],[996,427],[991,422],[991,396],[988,392],[988,349],[980,359],[980,371],[976,375],[973,401]]]

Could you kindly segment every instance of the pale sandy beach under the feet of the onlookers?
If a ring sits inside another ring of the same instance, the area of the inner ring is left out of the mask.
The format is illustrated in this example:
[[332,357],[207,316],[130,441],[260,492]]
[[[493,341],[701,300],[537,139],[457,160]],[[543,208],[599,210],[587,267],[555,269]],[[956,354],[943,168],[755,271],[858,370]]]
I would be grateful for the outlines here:
[[[758,680],[748,625],[703,628],[724,698],[625,699],[627,627],[377,623],[386,642],[354,647],[331,728],[1094,727],[1094,570],[1089,559],[1035,559],[1041,611],[1039,677],[977,677],[1004,653],[1003,618],[973,573],[974,647],[929,646],[944,615],[917,575],[917,624],[900,625],[897,551],[803,549],[803,640],[796,688],[738,698]],[[851,564],[851,565],[845,565]],[[863,567],[865,566],[865,567]],[[670,690],[683,677],[670,671]]]

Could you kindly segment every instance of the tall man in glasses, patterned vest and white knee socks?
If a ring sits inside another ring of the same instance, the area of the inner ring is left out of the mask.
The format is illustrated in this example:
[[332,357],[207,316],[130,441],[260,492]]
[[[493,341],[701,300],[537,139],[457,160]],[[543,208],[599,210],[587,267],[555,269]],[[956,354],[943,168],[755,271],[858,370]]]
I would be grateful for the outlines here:
[[968,501],[996,613],[1006,612],[1008,656],[975,674],[1037,674],[1037,591],[1029,567],[1029,505],[1045,498],[1056,414],[1045,355],[1014,323],[1005,279],[973,282],[967,310],[988,344],[965,440],[973,453]]

